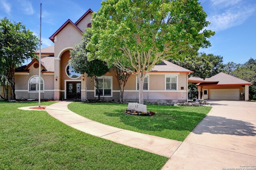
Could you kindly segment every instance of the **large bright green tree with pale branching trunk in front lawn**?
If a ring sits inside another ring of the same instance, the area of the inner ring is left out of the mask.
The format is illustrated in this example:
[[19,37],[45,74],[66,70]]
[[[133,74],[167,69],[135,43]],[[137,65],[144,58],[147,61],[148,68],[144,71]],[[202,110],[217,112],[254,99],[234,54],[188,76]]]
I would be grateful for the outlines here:
[[[139,102],[146,73],[162,61],[207,48],[209,24],[197,0],[106,0],[92,14],[88,49],[121,70],[136,74]],[[94,54],[92,55],[94,56]]]

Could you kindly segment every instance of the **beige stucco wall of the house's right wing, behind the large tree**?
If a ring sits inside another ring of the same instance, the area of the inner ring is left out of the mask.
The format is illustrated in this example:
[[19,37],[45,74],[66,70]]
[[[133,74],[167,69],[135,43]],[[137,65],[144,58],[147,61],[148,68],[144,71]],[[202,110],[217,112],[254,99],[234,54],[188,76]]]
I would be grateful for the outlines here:
[[[178,76],[178,86],[177,90],[165,90],[165,76]],[[112,72],[108,72],[104,76],[112,76],[113,89],[112,97],[101,97],[102,100],[118,100],[119,99],[119,86],[118,80]],[[149,76],[149,90],[143,92],[145,102],[186,102],[187,96],[187,74],[171,74],[171,73],[154,73]],[[184,90],[180,90],[180,87],[184,87]],[[94,86],[90,78],[87,78],[87,99],[97,99],[94,96]],[[136,76],[132,74],[128,79],[126,86],[124,88],[124,100],[125,101],[138,101],[139,94],[136,90]]]

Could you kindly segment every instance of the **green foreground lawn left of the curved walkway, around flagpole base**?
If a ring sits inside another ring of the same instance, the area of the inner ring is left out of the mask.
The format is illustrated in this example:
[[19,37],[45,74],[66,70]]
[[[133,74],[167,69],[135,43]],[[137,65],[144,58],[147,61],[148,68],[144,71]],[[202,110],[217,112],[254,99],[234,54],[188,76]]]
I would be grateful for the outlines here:
[[17,109],[32,105],[0,102],[0,169],[150,170],[168,160],[80,132],[44,111]]

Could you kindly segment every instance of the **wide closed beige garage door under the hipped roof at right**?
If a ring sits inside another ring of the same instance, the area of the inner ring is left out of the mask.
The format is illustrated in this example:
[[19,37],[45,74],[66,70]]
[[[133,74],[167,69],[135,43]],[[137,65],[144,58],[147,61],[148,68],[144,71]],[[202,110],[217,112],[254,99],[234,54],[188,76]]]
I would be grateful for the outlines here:
[[239,100],[239,88],[233,89],[210,89],[209,99],[211,100]]

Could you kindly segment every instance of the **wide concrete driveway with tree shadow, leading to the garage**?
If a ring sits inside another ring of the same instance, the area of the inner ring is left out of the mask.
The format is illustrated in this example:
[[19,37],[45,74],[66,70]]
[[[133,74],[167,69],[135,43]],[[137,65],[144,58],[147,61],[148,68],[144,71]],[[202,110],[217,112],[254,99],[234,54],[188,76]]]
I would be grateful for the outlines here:
[[[163,169],[256,170],[256,102],[213,101]],[[252,166],[252,167],[250,167]]]

